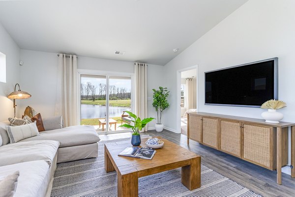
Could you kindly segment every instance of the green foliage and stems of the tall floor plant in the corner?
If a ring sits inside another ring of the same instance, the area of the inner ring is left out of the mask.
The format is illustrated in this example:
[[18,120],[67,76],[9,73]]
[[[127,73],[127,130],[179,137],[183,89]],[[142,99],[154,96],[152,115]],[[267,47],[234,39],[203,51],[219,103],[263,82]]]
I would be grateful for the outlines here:
[[[162,113],[165,109],[167,109],[169,107],[169,103],[167,100],[167,97],[169,96],[169,92],[167,87],[159,87],[159,90],[156,89],[152,89],[153,90],[153,103],[152,103],[152,107],[155,108],[156,112],[157,112],[157,120],[158,123],[157,124],[161,124],[161,119],[162,119]],[[160,118],[159,118],[159,114],[160,114]]]

